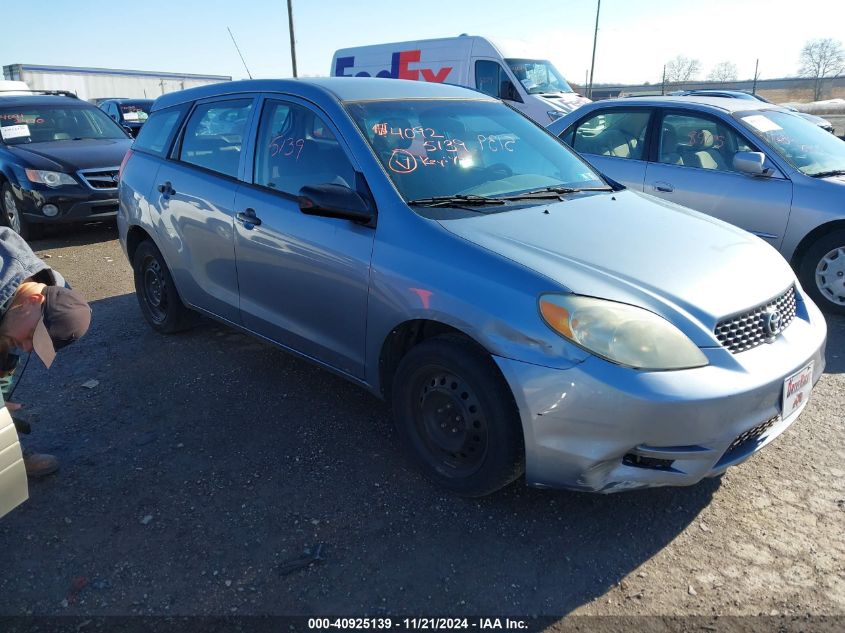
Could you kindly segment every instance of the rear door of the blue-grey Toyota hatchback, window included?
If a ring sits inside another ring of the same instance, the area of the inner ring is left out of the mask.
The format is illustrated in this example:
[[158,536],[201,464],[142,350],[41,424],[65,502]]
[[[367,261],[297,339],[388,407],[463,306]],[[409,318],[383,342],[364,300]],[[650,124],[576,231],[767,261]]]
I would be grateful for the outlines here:
[[197,102],[151,192],[157,243],[182,299],[239,322],[234,214],[255,95]]

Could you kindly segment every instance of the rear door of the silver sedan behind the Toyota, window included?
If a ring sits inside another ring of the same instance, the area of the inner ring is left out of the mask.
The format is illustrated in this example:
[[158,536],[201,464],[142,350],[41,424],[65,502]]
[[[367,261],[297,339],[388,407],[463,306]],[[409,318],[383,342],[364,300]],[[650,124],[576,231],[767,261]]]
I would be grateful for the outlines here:
[[643,190],[654,109],[594,110],[561,134],[591,165],[634,191]]

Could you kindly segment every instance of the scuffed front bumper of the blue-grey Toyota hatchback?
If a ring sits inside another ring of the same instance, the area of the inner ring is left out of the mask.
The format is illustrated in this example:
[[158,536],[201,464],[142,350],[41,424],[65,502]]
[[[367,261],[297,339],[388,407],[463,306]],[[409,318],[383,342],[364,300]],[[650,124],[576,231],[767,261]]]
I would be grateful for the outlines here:
[[744,461],[803,411],[781,417],[784,379],[810,361],[813,384],[824,371],[824,319],[811,302],[800,306],[774,343],[704,349],[710,364],[698,369],[636,371],[591,357],[560,370],[496,357],[520,410],[527,483],[688,486]]

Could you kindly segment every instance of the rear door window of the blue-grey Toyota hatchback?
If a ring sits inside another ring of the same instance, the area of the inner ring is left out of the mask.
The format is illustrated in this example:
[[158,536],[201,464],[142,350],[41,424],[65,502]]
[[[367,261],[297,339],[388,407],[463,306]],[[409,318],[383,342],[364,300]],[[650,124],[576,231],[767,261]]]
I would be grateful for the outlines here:
[[252,99],[198,105],[185,125],[179,160],[236,178],[251,110]]

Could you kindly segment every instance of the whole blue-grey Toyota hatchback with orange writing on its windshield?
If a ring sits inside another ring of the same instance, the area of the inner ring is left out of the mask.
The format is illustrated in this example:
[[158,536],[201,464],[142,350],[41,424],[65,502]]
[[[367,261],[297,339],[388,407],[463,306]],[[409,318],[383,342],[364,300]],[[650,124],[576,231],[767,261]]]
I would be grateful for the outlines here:
[[614,190],[456,86],[163,95],[118,229],[155,330],[200,312],[389,399],[426,475],[465,495],[523,470],[602,492],[718,476],[796,420],[825,364],[773,248]]

